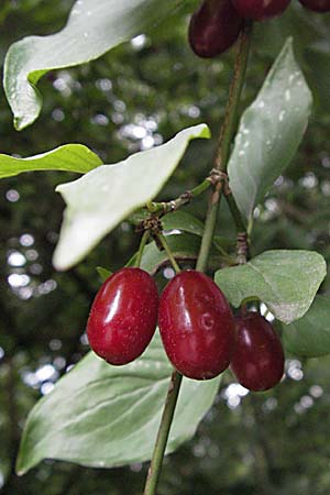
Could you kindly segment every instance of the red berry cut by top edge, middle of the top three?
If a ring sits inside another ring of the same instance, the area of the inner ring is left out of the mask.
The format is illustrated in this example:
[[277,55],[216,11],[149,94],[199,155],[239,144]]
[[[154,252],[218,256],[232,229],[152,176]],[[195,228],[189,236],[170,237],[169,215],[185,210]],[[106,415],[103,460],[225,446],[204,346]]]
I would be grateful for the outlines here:
[[254,21],[264,21],[282,14],[290,0],[232,0],[240,15]]

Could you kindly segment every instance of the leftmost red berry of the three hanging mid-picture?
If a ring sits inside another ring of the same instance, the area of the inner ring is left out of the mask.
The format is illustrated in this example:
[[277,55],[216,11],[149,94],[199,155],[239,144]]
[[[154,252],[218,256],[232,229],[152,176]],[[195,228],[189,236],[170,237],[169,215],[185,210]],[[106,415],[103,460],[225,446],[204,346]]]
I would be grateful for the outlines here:
[[87,336],[110,364],[134,361],[150,343],[157,322],[158,294],[140,268],[121,268],[101,286],[91,306]]

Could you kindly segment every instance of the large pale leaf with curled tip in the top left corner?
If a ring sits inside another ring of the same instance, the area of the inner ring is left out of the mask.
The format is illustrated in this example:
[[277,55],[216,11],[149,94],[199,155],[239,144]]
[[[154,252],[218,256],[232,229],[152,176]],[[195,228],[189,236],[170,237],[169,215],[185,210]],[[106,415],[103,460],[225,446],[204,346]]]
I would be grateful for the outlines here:
[[4,90],[18,130],[38,116],[42,97],[35,85],[51,69],[85,64],[150,30],[183,0],[78,0],[67,25],[50,36],[29,36],[9,48]]

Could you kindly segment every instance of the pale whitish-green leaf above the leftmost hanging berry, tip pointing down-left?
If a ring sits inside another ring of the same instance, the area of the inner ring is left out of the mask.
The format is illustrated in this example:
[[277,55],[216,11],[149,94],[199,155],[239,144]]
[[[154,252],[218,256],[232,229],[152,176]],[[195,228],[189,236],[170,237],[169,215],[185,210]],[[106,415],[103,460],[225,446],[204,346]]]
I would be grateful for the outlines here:
[[80,261],[120,221],[160,193],[190,140],[209,135],[206,124],[185,129],[161,146],[58,186],[67,208],[54,266],[66,270]]

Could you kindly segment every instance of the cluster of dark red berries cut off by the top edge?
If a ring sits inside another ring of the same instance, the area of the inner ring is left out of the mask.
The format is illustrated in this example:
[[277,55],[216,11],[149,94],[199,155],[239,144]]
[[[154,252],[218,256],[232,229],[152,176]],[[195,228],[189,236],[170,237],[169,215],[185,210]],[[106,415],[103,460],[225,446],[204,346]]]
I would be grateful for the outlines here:
[[[329,12],[330,0],[299,0],[307,9]],[[290,0],[204,0],[189,24],[189,43],[196,55],[211,58],[238,38],[246,19],[264,21],[282,14]]]

